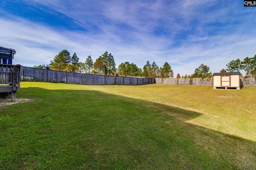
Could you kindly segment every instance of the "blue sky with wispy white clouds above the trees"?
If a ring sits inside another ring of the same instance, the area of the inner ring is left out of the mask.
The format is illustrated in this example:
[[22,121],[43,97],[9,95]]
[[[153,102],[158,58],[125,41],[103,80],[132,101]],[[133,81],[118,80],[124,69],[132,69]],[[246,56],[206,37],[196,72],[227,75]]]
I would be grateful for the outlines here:
[[82,62],[105,51],[116,65],[169,62],[174,74],[212,72],[256,54],[256,7],[242,0],[1,1],[0,46],[15,64],[49,64],[62,49]]

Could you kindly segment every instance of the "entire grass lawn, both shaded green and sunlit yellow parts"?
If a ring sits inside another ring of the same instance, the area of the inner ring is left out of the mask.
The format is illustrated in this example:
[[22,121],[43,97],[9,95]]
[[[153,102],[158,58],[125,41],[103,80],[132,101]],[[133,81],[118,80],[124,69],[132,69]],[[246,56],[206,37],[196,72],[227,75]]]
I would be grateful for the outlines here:
[[256,88],[22,82],[0,169],[256,169]]

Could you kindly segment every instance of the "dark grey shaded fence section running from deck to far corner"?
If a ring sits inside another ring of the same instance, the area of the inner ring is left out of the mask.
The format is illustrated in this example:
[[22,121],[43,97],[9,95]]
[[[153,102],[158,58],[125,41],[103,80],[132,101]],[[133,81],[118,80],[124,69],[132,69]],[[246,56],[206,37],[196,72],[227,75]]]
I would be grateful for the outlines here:
[[118,77],[107,75],[83,74],[45,69],[35,69],[33,67],[24,66],[22,66],[21,69],[21,81],[41,81],[54,83],[96,85],[142,85],[155,83],[154,78]]

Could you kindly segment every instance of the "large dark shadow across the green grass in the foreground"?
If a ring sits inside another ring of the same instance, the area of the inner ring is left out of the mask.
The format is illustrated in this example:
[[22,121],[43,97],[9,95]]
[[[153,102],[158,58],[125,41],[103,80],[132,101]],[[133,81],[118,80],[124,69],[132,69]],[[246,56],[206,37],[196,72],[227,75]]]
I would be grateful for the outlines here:
[[91,90],[22,88],[0,110],[3,169],[255,169],[256,143],[201,113]]

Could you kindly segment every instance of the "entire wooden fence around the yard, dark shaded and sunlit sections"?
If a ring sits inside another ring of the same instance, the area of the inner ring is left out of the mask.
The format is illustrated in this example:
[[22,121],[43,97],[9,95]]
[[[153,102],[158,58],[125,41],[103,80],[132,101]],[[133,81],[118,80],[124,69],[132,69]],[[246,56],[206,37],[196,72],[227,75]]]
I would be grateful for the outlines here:
[[[33,67],[21,67],[21,81],[42,81],[70,84],[97,84],[97,85],[142,85],[142,84],[172,84],[172,85],[196,85],[212,86],[212,79],[206,78],[141,78],[141,77],[118,77],[107,75],[83,74],[63,71],[53,71],[45,69],[35,69]],[[241,78],[241,86],[256,87],[255,78]]]

